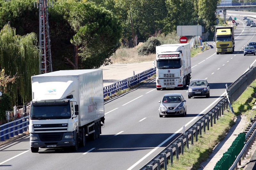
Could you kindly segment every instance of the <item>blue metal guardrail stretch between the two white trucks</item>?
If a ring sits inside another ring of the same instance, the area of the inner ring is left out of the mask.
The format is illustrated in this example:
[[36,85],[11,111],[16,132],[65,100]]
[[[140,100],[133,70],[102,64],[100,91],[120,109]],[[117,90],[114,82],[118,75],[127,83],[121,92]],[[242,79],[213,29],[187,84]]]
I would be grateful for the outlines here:
[[112,85],[107,85],[103,87],[103,96],[111,96],[111,94],[129,88],[133,85],[140,83],[142,80],[145,80],[156,73],[156,69],[145,70],[139,74],[136,74],[132,77],[126,78],[124,80],[113,83]]

